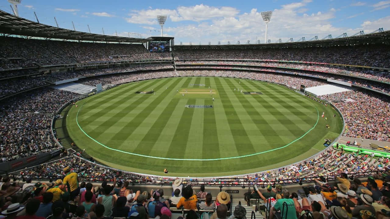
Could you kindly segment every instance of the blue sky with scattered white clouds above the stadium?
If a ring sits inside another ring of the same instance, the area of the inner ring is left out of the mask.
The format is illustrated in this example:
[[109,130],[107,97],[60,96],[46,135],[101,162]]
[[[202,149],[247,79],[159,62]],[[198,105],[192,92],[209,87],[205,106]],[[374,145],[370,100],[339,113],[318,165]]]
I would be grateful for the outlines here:
[[[10,12],[9,3],[2,0],[0,9]],[[164,36],[175,37],[175,43],[241,44],[246,41],[264,42],[265,24],[261,11],[273,11],[268,25],[268,39],[298,41],[328,34],[333,37],[364,30],[367,34],[378,28],[390,29],[390,0],[301,0],[301,1],[102,1],[102,0],[22,0],[19,15],[55,26],[54,17],[62,28],[106,35],[128,36],[128,32],[142,37],[160,35],[157,14],[167,15]],[[136,35],[131,35],[136,36]]]

